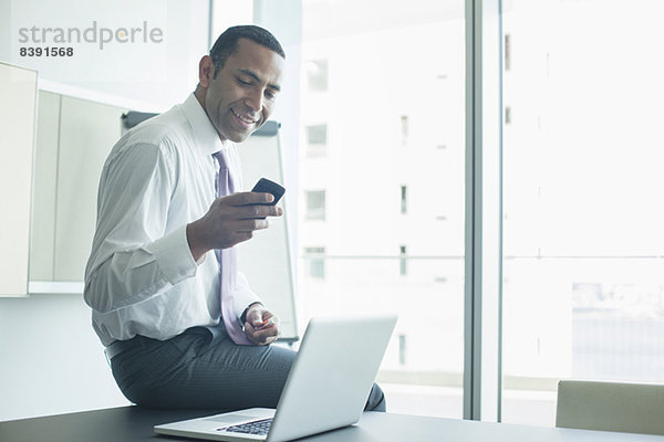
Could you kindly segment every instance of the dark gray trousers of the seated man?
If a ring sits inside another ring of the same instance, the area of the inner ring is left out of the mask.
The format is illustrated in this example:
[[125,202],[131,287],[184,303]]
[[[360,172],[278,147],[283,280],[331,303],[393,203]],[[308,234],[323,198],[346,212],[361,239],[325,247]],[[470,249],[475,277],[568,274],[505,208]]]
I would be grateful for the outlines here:
[[[149,408],[276,408],[297,355],[276,345],[238,346],[222,327],[194,327],[168,340],[136,336],[123,345],[111,359],[113,377],[129,401]],[[365,410],[385,411],[375,383]]]

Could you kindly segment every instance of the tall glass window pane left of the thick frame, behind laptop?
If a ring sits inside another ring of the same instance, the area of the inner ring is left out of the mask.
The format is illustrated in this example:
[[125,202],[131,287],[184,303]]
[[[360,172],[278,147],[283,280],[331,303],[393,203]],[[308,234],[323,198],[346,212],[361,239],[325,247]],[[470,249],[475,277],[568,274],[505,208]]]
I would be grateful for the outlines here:
[[400,314],[390,411],[463,412],[464,6],[303,1],[299,316]]

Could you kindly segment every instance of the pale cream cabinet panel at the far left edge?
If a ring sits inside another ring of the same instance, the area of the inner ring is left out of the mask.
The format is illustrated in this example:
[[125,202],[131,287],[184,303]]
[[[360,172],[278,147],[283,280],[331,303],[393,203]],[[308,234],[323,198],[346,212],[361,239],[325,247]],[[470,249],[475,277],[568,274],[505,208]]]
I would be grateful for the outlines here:
[[0,63],[0,295],[28,293],[37,72]]

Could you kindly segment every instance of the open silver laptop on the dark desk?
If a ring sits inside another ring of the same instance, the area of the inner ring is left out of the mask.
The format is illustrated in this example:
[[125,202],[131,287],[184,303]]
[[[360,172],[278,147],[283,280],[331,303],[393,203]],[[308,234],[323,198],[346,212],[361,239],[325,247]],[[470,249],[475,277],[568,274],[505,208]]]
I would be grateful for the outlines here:
[[155,425],[159,434],[281,442],[360,420],[396,315],[310,320],[277,409],[252,408]]

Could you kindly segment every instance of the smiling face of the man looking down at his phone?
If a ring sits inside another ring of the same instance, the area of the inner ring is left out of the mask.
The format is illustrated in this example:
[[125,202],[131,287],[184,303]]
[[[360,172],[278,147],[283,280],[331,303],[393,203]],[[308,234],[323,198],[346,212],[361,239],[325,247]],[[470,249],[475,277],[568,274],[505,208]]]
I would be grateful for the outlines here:
[[216,78],[212,67],[207,87],[201,78],[205,112],[221,140],[241,143],[268,120],[281,90],[282,71],[278,53],[240,39]]

